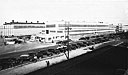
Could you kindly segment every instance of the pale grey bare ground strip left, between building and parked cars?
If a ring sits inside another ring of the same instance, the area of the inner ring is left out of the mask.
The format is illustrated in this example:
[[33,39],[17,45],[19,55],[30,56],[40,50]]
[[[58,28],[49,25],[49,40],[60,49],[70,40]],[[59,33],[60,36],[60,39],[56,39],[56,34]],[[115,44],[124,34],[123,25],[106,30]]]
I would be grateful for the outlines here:
[[26,50],[36,49],[36,48],[54,46],[54,45],[55,45],[55,43],[32,42],[32,43],[23,43],[23,44],[0,46],[0,55],[1,54],[6,54],[6,53],[13,53],[13,52],[26,51]]

